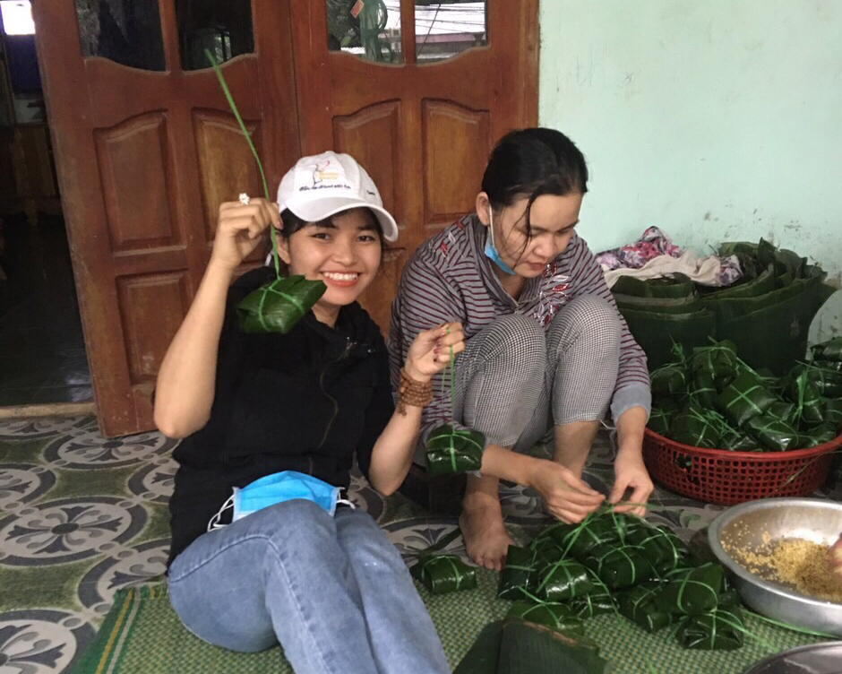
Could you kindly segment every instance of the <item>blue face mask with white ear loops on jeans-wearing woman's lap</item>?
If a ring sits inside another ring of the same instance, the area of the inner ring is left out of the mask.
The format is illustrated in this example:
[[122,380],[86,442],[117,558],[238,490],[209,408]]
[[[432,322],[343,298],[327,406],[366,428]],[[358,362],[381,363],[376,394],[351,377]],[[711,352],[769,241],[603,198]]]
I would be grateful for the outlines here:
[[324,480],[314,478],[298,471],[280,471],[265,475],[254,480],[243,488],[234,488],[234,493],[219,508],[219,512],[211,517],[208,523],[208,531],[221,529],[225,524],[219,523],[222,514],[228,508],[234,508],[231,522],[243,519],[246,515],[256,513],[263,508],[274,506],[276,503],[291,501],[294,498],[303,498],[313,501],[317,506],[328,514],[336,513],[336,506],[339,503],[354,505],[343,498],[339,498],[341,489],[328,484]]

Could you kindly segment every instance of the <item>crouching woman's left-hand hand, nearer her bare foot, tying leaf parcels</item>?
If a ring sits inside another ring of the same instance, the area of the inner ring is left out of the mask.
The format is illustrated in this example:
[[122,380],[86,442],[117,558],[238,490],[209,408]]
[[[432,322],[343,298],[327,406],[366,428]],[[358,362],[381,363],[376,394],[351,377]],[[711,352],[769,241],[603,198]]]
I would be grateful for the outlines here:
[[581,522],[605,500],[603,494],[590,488],[560,463],[546,459],[535,461],[528,486],[541,495],[544,509],[555,519],[566,523]]

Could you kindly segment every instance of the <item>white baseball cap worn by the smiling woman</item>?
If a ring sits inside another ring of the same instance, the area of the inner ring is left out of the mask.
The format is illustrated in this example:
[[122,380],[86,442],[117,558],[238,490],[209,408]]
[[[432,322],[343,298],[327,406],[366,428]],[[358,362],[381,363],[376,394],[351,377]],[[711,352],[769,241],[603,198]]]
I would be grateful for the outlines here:
[[307,222],[318,222],[349,208],[370,208],[380,222],[383,238],[398,238],[398,224],[383,208],[374,180],[349,154],[328,151],[298,160],[280,181],[278,206]]

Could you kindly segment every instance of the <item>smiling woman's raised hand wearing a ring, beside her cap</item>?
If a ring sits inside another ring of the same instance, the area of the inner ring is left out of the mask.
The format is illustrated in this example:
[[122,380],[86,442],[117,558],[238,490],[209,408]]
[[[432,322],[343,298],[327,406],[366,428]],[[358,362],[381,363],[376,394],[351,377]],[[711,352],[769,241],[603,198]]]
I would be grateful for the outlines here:
[[235,270],[260,244],[263,231],[270,225],[280,229],[280,215],[278,206],[265,199],[220,204],[211,264]]

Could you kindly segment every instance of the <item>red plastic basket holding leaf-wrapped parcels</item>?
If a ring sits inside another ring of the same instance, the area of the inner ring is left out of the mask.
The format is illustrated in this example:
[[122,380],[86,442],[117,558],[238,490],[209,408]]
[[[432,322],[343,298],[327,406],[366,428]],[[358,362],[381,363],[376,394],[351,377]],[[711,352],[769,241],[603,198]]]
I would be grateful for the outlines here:
[[810,449],[731,452],[674,442],[646,429],[643,460],[653,480],[685,497],[733,506],[765,497],[812,494],[827,479],[842,435]]

